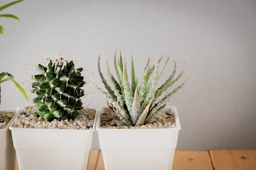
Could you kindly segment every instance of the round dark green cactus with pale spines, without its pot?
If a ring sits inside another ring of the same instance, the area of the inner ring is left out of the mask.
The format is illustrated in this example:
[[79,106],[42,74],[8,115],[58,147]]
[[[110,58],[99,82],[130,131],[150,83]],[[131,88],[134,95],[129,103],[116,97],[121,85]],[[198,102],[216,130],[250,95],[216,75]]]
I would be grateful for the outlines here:
[[85,84],[82,68],[75,69],[73,61],[68,62],[63,57],[54,62],[48,59],[46,67],[37,64],[36,68],[40,72],[32,77],[36,81],[32,84],[32,93],[37,95],[33,98],[38,106],[36,115],[45,120],[77,118],[82,109],[80,98],[85,95],[81,89]]

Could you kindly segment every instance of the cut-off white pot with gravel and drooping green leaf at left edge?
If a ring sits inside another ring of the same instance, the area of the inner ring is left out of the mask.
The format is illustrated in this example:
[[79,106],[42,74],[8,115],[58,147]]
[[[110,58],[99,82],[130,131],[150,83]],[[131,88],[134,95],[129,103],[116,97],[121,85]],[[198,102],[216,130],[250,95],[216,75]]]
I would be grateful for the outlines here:
[[[1,83],[13,81],[28,101],[28,96],[22,87],[14,80],[14,76],[7,72],[0,73],[0,105],[1,105]],[[0,170],[14,169],[15,151],[11,138],[9,126],[14,121],[19,108],[0,108]]]

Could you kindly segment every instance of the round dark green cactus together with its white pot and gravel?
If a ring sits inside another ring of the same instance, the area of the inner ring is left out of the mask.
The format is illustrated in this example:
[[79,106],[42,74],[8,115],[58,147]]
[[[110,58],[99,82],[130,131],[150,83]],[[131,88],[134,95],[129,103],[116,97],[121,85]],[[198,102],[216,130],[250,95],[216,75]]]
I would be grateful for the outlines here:
[[87,169],[96,111],[82,107],[82,68],[62,56],[36,67],[36,106],[21,109],[10,127],[19,169]]

